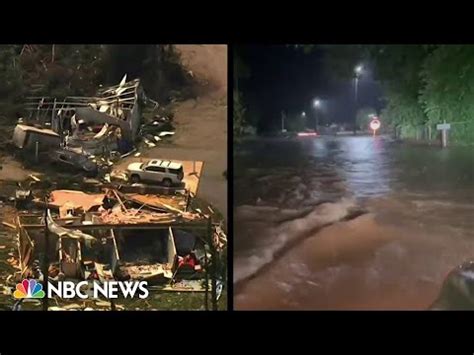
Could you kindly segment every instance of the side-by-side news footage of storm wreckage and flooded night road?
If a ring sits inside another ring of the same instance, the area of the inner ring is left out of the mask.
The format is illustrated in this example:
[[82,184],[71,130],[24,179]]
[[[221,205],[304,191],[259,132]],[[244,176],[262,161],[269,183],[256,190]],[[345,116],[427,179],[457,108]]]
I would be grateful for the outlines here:
[[474,309],[473,48],[1,45],[0,309]]

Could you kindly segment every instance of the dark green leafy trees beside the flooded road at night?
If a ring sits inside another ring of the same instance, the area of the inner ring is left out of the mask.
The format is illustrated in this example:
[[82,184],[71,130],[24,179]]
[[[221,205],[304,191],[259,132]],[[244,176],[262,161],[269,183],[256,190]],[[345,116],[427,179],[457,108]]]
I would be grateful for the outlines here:
[[[381,119],[403,135],[410,136],[420,127],[435,131],[435,125],[446,120],[453,123],[452,141],[474,142],[474,45],[293,47],[304,52],[323,49],[326,69],[336,80],[353,78],[354,67],[360,63],[369,66],[383,88]],[[241,127],[249,124],[249,118],[241,93],[234,90],[234,96],[239,96],[234,122]]]

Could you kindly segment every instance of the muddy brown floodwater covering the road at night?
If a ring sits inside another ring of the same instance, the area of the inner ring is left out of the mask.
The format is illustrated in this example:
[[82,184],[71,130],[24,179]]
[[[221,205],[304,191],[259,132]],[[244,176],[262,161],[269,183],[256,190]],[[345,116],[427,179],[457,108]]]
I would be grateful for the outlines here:
[[474,149],[389,137],[234,155],[236,309],[427,309],[474,259]]

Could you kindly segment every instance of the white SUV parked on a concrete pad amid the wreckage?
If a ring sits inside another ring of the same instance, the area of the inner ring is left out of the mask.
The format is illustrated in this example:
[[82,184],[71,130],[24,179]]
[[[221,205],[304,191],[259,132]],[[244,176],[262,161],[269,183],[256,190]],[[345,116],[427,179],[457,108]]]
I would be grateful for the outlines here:
[[147,163],[132,163],[127,168],[130,181],[158,182],[165,186],[179,184],[184,178],[183,164],[169,160],[150,160]]

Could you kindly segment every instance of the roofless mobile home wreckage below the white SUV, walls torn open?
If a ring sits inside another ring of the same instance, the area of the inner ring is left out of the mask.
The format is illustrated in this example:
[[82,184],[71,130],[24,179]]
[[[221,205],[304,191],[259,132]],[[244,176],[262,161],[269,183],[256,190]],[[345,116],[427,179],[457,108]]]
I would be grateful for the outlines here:
[[100,194],[77,194],[81,209],[56,198],[60,213],[55,218],[49,209],[46,219],[42,214],[17,216],[19,278],[40,277],[40,254],[48,244],[52,281],[145,280],[173,290],[177,281],[203,279],[211,257],[205,245],[219,249],[227,241],[218,226],[198,213],[132,209],[122,202],[112,207]]

